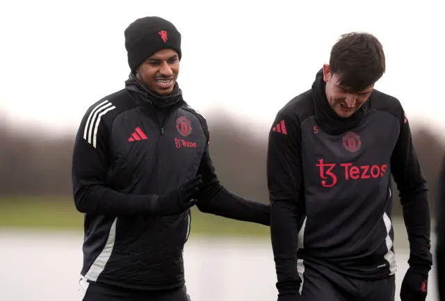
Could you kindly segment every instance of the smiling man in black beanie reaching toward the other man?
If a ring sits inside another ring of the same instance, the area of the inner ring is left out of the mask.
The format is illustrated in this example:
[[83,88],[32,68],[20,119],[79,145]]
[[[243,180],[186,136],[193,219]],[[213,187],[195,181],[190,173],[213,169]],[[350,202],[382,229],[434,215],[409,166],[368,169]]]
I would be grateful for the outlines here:
[[88,108],[74,144],[74,203],[85,213],[79,293],[83,301],[185,301],[191,207],[268,226],[270,206],[218,181],[207,122],[176,82],[175,26],[137,19],[125,47],[125,88]]

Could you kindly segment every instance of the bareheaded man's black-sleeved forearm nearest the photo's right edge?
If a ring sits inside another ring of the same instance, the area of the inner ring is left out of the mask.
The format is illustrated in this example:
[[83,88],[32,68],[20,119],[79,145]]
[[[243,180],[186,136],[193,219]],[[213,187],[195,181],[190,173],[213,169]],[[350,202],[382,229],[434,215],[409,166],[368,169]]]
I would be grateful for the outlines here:
[[410,266],[432,266],[430,253],[431,218],[427,191],[421,190],[401,198],[403,218],[410,241]]

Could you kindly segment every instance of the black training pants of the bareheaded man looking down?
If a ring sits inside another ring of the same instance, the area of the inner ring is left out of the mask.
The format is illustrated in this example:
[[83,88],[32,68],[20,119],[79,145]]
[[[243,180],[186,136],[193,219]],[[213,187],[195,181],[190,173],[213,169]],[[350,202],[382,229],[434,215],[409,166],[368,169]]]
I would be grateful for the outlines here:
[[394,301],[396,277],[365,281],[307,261],[298,260],[302,301]]

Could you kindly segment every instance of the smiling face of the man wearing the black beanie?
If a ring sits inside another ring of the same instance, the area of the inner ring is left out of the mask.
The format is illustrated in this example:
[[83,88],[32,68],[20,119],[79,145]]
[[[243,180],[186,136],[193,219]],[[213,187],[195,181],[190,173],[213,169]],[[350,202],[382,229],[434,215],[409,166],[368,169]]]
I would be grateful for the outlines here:
[[138,67],[137,78],[152,92],[169,95],[179,74],[179,57],[172,49],[163,49],[150,56]]

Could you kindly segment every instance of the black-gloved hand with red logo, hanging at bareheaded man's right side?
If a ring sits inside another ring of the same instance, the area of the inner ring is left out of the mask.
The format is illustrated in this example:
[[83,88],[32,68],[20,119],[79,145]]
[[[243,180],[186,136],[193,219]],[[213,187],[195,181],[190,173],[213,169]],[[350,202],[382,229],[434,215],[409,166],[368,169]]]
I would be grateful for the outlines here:
[[401,301],[425,301],[428,292],[428,272],[408,268],[401,286]]

